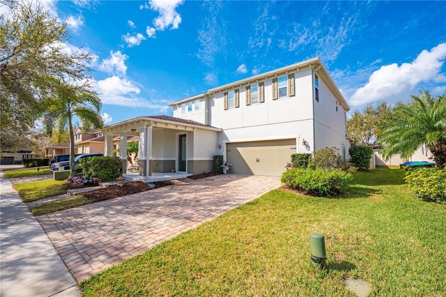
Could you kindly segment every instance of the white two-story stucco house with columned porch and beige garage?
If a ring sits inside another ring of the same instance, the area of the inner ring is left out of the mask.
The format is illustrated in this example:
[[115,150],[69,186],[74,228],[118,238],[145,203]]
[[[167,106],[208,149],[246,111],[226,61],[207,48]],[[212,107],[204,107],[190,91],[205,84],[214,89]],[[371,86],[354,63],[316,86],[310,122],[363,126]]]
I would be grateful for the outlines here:
[[120,135],[139,136],[139,176],[212,171],[213,155],[231,174],[279,176],[292,153],[336,146],[348,159],[350,109],[320,59],[314,58],[210,89],[169,104],[174,116],[139,116],[104,128],[106,153]]

